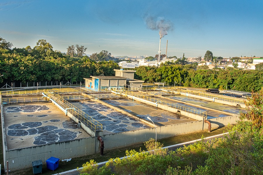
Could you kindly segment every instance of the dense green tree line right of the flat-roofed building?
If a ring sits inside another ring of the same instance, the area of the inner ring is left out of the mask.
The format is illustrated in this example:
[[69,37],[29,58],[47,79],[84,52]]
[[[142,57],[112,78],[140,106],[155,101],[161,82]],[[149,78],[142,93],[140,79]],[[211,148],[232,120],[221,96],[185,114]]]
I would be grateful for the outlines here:
[[[207,67],[207,66],[206,66]],[[258,91],[263,86],[262,70],[202,69],[197,64],[179,65],[162,63],[160,67],[140,66],[135,68],[136,79],[145,82],[165,82],[167,85],[181,85],[196,88],[219,88]]]

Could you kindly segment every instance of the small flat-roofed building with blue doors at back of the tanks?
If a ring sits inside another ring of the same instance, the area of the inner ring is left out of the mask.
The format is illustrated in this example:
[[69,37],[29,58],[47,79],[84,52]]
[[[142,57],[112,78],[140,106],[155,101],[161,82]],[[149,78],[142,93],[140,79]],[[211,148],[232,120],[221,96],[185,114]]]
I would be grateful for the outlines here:
[[144,81],[135,80],[133,70],[118,70],[114,69],[115,76],[90,76],[84,78],[85,88],[99,91],[100,89],[108,89],[110,87],[124,87],[129,89],[142,88]]

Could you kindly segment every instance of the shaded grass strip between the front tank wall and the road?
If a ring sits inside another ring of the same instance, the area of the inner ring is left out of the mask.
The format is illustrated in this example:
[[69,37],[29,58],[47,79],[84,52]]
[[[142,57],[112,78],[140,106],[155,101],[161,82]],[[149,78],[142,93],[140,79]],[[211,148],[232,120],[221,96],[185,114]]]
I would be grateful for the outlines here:
[[[233,126],[230,126],[230,127],[233,127]],[[189,133],[189,134],[184,134],[184,135],[178,135],[178,136],[169,137],[166,139],[160,139],[160,140],[158,140],[158,142],[163,143],[164,146],[170,146],[170,145],[174,145],[174,144],[178,144],[178,143],[192,141],[195,139],[200,139],[202,137],[202,135],[205,137],[208,137],[208,136],[213,136],[213,135],[217,135],[217,134],[222,134],[224,132],[227,132],[228,128],[229,127],[222,127],[222,128],[218,128],[218,129],[213,129],[212,132],[210,132],[210,133],[207,131],[200,131],[200,132],[194,132],[194,133]],[[48,170],[48,169],[46,169],[46,165],[43,165],[42,174],[43,175],[51,175],[51,174],[56,174],[56,173],[68,171],[71,169],[76,169],[77,167],[82,167],[82,164],[88,162],[91,159],[95,160],[96,162],[104,162],[104,161],[109,160],[110,158],[124,157],[126,150],[134,149],[136,151],[139,151],[140,148],[142,148],[142,150],[146,150],[143,143],[132,145],[132,146],[127,146],[127,147],[123,147],[123,148],[113,149],[113,150],[107,150],[107,143],[105,143],[105,150],[104,150],[103,156],[100,156],[100,153],[95,153],[92,155],[86,155],[86,156],[82,156],[82,157],[72,158],[72,160],[69,162],[59,161],[58,169],[56,169],[55,171]],[[2,156],[3,156],[3,154],[2,154]],[[71,158],[71,157],[68,157],[68,158]],[[3,158],[1,158],[1,160],[3,162]],[[42,160],[42,161],[44,162],[45,160]],[[32,174],[32,172],[33,172],[32,168],[27,168],[27,169],[13,171],[13,172],[11,171],[9,174],[10,175],[27,175],[27,174]]]

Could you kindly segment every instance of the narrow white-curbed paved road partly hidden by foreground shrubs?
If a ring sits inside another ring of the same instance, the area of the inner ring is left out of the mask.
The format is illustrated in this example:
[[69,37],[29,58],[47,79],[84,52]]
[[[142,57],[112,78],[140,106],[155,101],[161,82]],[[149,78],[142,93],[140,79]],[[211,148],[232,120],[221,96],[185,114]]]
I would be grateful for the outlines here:
[[[204,140],[207,142],[207,141],[211,141],[212,139],[214,138],[224,138],[225,136],[229,136],[228,132],[224,133],[224,134],[218,134],[218,135],[214,135],[214,136],[210,136],[210,137],[206,137],[204,138]],[[184,145],[190,145],[196,141],[200,141],[201,139],[197,139],[197,140],[193,140],[193,141],[188,141],[188,142],[184,142],[184,143],[179,143],[179,144],[176,144],[176,145],[172,145],[172,146],[167,146],[167,147],[164,147],[164,148],[168,148],[168,150],[176,150],[177,148],[180,148],[180,147],[183,147]],[[124,158],[124,157],[122,157]],[[122,159],[120,158],[120,159]],[[107,161],[106,161],[107,162]],[[98,163],[99,167],[102,167],[106,162],[101,162],[101,163]],[[77,171],[77,169],[72,169],[70,171],[65,171],[65,172],[62,172],[62,173],[58,173],[58,174],[54,174],[54,175],[59,175],[59,174],[63,174],[63,175],[78,175],[79,172]]]

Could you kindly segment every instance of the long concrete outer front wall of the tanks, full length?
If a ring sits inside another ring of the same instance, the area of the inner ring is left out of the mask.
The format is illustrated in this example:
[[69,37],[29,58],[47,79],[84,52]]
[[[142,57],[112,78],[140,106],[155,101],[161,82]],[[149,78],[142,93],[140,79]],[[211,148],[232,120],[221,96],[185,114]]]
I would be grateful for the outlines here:
[[[224,126],[228,123],[236,123],[237,116],[216,118],[209,120],[213,127]],[[2,119],[3,120],[3,119]],[[3,124],[3,123],[2,123]],[[163,139],[179,134],[186,134],[196,131],[202,131],[206,126],[203,125],[203,121],[194,121],[187,123],[180,123],[175,125],[167,125],[156,127],[157,139]],[[206,123],[205,123],[206,124]],[[4,127],[4,126],[3,126]],[[208,127],[208,125],[207,125]],[[4,130],[3,130],[4,131]],[[3,138],[5,132],[3,132]],[[138,129],[134,131],[120,132],[114,134],[105,134],[102,136],[104,140],[104,151],[120,148],[124,146],[130,146],[137,143],[142,143],[149,140],[149,138],[155,138],[155,128]],[[3,143],[5,143],[3,141]],[[61,159],[74,158],[84,155],[93,154],[98,152],[99,143],[96,137],[89,137],[83,139],[76,139],[66,142],[51,143],[47,145],[32,146],[29,148],[20,148],[7,150],[6,144],[4,147],[4,161],[9,161],[9,169],[11,171],[32,167],[31,162],[41,159],[43,163],[53,156]],[[14,161],[14,163],[13,163]],[[6,165],[5,165],[6,168]]]

